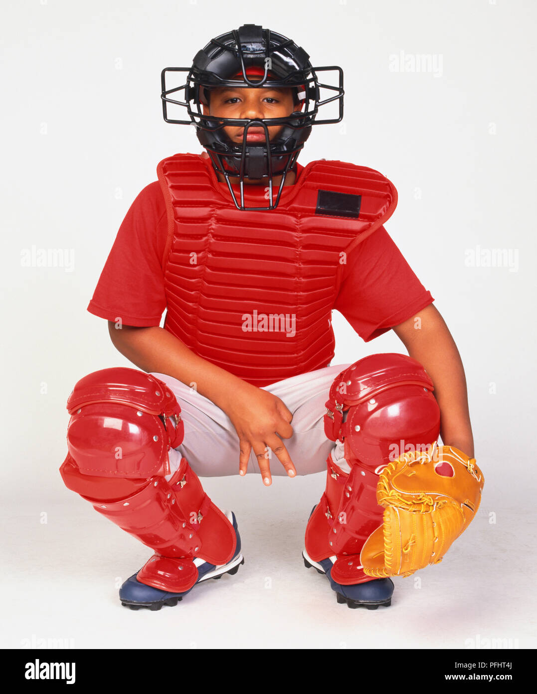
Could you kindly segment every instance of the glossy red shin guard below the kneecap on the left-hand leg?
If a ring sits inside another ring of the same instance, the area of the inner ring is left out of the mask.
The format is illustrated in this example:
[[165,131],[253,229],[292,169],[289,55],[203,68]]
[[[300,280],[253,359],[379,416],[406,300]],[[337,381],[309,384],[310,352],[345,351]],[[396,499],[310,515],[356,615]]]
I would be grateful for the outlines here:
[[[197,581],[195,557],[222,565],[234,556],[234,527],[204,493],[186,458],[169,482],[161,476],[128,480],[82,475],[71,455],[60,473],[69,489],[96,511],[155,550],[138,573],[142,583],[174,593],[186,591]],[[130,494],[122,495],[122,488]]]

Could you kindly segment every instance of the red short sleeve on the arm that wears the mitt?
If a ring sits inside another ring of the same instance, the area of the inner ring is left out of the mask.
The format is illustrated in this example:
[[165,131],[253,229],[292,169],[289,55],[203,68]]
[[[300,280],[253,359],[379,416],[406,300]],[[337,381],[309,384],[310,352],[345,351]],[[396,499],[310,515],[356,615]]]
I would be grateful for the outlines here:
[[369,342],[434,301],[383,226],[352,251],[334,308]]

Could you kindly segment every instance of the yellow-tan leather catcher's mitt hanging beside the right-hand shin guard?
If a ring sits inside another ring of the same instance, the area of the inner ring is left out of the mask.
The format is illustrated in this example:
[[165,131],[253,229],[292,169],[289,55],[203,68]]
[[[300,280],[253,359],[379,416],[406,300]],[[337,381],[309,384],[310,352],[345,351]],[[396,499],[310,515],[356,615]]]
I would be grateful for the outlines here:
[[405,453],[389,463],[377,486],[383,524],[360,553],[364,573],[410,576],[442,561],[477,513],[483,483],[475,458],[452,446],[434,443],[428,452]]

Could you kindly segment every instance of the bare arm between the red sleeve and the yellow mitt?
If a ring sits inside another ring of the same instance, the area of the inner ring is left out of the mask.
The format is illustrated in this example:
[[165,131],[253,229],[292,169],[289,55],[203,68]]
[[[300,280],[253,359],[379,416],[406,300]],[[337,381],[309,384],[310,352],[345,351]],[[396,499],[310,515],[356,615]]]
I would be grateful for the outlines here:
[[464,367],[455,340],[441,314],[429,304],[393,330],[407,348],[409,356],[420,362],[432,379],[434,396],[440,407],[440,436],[443,443],[474,457]]

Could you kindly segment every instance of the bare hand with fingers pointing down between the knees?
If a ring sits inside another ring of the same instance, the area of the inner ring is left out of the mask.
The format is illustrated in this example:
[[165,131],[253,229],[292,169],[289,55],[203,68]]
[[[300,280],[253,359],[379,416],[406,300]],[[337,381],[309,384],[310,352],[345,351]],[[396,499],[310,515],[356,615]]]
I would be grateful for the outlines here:
[[243,382],[233,393],[229,405],[223,408],[231,419],[240,443],[239,474],[245,475],[252,448],[257,457],[263,483],[270,486],[270,450],[275,453],[287,471],[294,477],[297,470],[290,459],[283,439],[293,434],[292,414],[283,400],[262,388]]

